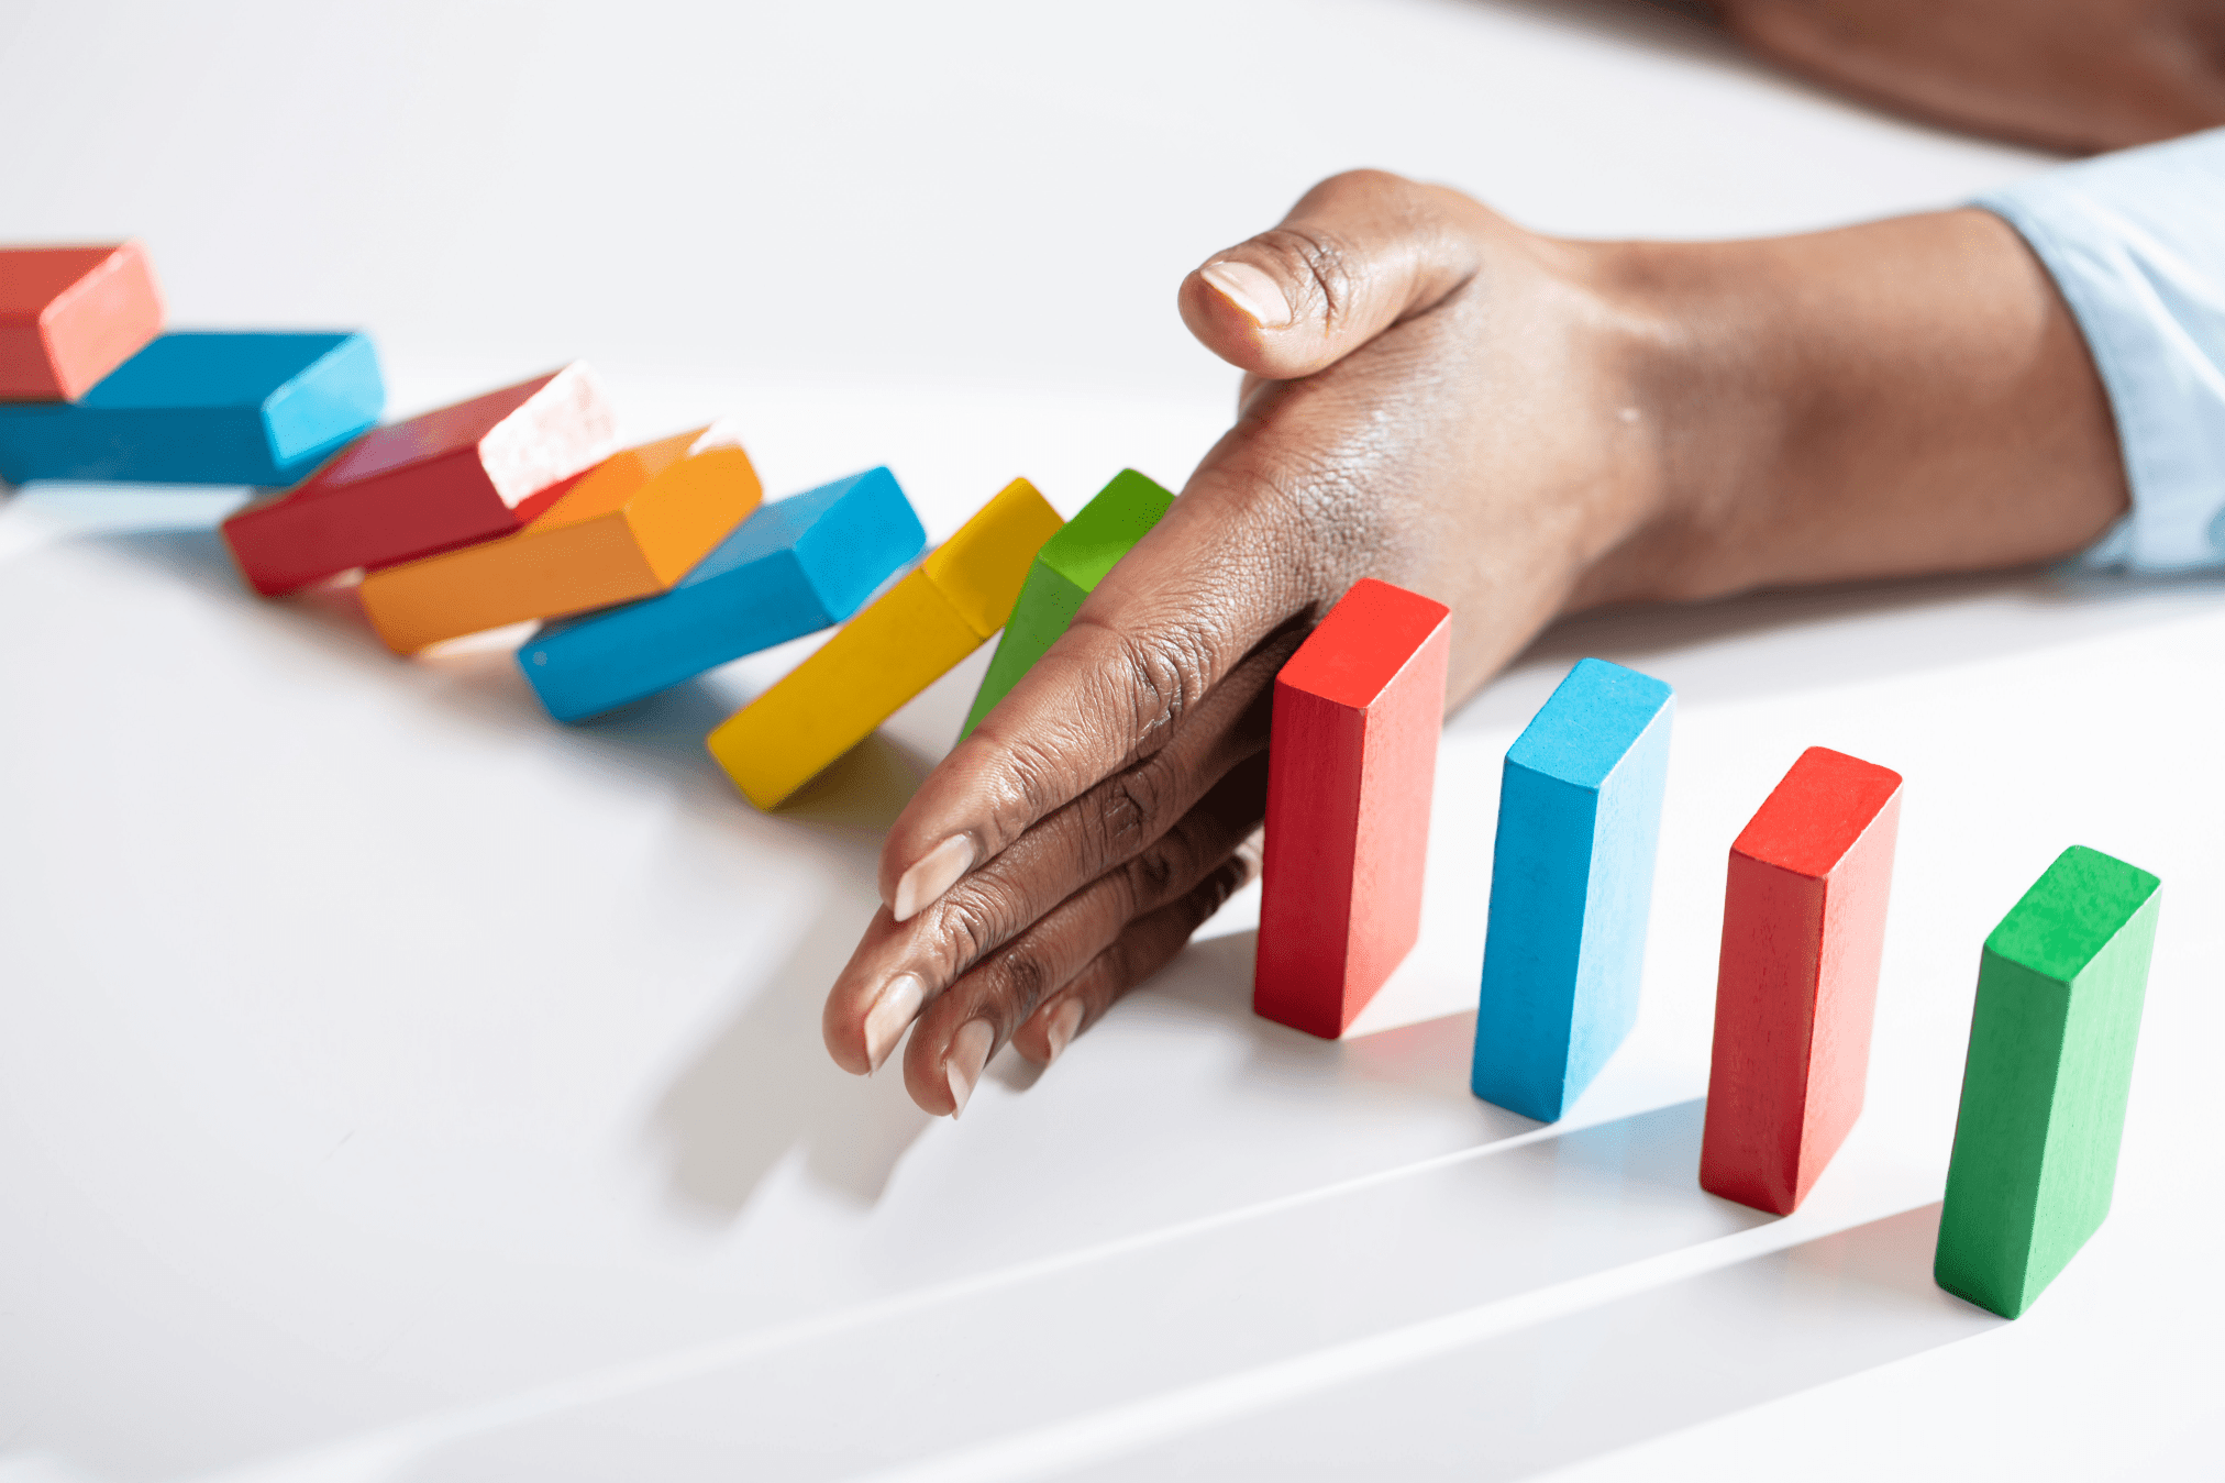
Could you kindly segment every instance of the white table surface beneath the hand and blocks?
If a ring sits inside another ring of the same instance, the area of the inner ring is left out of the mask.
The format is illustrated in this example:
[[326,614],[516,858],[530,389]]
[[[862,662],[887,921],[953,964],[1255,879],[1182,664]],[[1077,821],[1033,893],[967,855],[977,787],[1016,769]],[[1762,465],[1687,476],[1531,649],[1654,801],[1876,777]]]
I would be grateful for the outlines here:
[[[585,354],[630,431],[890,462],[937,536],[1177,482],[1230,374],[1173,285],[1331,169],[1698,236],[2040,162],[1615,4],[80,2],[0,78],[0,240],[363,325],[398,414]],[[247,596],[238,498],[0,502],[0,1483],[2218,1467],[2221,583],[1564,625],[1448,727],[1346,1043],[1250,1016],[1244,894],[946,1123],[817,1025],[981,656],[761,816],[701,736],[812,640],[563,729],[498,645]],[[1466,1056],[1500,756],[1582,654],[1682,709],[1638,1032],[1540,1127]],[[1811,743],[1909,792],[1869,1107],[1773,1221],[1695,1187],[1698,1098],[1724,849]],[[2116,1210],[2002,1323],[1931,1236],[1978,943],[2071,843],[2163,929]]]

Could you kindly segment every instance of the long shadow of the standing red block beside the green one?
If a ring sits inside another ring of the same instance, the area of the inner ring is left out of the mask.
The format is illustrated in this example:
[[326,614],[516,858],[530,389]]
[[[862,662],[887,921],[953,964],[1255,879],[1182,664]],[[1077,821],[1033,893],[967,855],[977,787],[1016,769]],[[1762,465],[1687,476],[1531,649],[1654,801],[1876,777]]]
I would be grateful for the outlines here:
[[[1678,1103],[1024,1261],[527,1425],[458,1425],[400,1476],[710,1483],[946,1461],[948,1476],[972,1476],[990,1439],[1086,1430],[1106,1407],[1181,1407],[1188,1387],[1242,1385],[1290,1356],[1767,1225],[1698,1190],[1698,1143],[1700,1105]],[[1288,1476],[1397,1474],[1359,1463]]]

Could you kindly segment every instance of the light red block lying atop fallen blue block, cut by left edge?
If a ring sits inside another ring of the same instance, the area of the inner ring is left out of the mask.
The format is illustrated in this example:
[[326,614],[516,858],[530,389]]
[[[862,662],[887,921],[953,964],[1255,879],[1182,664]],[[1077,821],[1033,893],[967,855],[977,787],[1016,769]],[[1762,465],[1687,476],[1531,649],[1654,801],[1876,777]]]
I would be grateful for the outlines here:
[[0,402],[73,402],[158,334],[138,242],[0,247]]

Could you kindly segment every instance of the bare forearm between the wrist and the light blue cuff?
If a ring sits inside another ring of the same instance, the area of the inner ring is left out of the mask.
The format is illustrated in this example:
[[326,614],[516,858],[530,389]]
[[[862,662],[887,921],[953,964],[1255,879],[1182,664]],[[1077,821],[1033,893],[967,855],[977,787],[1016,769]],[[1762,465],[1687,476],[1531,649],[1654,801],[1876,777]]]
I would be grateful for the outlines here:
[[2067,305],[1987,211],[1604,245],[1658,471],[1569,607],[2054,560],[2127,507]]

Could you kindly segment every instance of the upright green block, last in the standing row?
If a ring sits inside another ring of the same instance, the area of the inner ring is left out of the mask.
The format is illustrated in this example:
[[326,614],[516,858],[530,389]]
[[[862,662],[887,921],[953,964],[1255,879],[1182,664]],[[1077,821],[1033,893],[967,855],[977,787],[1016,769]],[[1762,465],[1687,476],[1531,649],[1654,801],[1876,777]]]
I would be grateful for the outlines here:
[[2158,885],[2071,845],[1985,940],[1931,1272],[2002,1318],[2109,1214]]

